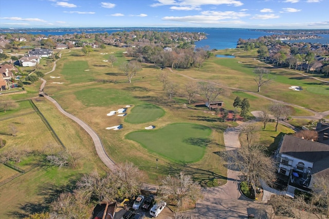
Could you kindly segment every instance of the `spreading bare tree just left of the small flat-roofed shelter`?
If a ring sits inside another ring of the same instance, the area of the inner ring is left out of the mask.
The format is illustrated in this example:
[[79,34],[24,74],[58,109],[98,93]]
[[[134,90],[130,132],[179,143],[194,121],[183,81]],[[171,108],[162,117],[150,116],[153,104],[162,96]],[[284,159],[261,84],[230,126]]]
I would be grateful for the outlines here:
[[208,104],[209,110],[211,110],[210,104],[215,101],[219,95],[228,95],[229,91],[226,87],[218,85],[214,82],[206,82],[199,84],[199,91],[205,96]]

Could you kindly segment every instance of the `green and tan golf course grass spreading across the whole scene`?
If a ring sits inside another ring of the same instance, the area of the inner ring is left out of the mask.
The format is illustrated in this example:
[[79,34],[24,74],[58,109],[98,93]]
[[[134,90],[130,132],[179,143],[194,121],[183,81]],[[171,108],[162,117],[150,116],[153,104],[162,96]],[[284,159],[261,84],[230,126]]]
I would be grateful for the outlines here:
[[[212,57],[200,70],[170,71],[143,64],[143,69],[133,77],[130,84],[119,68],[121,63],[132,59],[125,56],[124,51],[123,48],[117,47],[95,49],[90,55],[83,55],[80,49],[61,51],[62,57],[57,62],[56,70],[45,76],[47,85],[44,90],[55,98],[63,109],[79,117],[98,133],[105,151],[116,163],[132,162],[138,166],[145,173],[145,182],[159,184],[163,176],[184,171],[203,186],[226,183],[225,161],[218,154],[225,150],[224,130],[237,124],[218,122],[216,115],[209,113],[206,108],[187,104],[184,86],[196,81],[195,79],[215,81],[230,87],[230,95],[218,97],[223,99],[224,107],[228,110],[233,110],[232,103],[237,95],[248,98],[250,111],[272,104],[268,98],[321,112],[329,110],[325,104],[328,99],[327,84],[301,77],[298,72],[272,68],[260,63],[255,60],[255,51],[220,51],[218,53],[234,53],[236,58]],[[103,62],[111,54],[118,58],[113,67],[108,62]],[[269,69],[273,77],[272,83],[262,87],[260,93],[254,93],[257,90],[253,81],[253,70],[256,67]],[[48,70],[44,68],[43,71]],[[172,99],[162,90],[162,84],[158,80],[161,72],[167,72],[170,81],[178,84],[177,96]],[[64,84],[52,84],[53,82]],[[26,84],[28,93],[13,95],[12,98],[17,100],[38,96],[40,85],[41,81],[35,82],[34,85]],[[301,86],[303,90],[291,91],[288,89],[290,86]],[[197,96],[195,102],[204,102],[204,97]],[[79,165],[74,170],[36,168],[0,187],[0,199],[5,200],[0,208],[0,218],[12,218],[16,215],[23,217],[42,209],[60,191],[71,189],[82,174],[107,170],[100,161],[90,136],[80,126],[61,114],[44,98],[36,98],[34,103],[67,150],[80,154]],[[0,112],[0,132],[3,133],[1,137],[9,141],[9,145],[0,149],[0,152],[14,145],[41,150],[47,145],[55,144],[49,130],[40,117],[33,113],[28,102],[19,104],[19,109]],[[106,116],[108,112],[126,105],[134,106],[127,109],[126,117]],[[310,113],[295,106],[293,115]],[[150,121],[152,124],[149,124]],[[12,123],[19,130],[16,137],[9,135],[10,130],[7,127]],[[118,124],[123,124],[123,129],[105,129]],[[145,130],[145,124],[154,125],[156,129]],[[266,146],[269,151],[277,147],[283,134],[291,132],[281,125],[278,132],[275,132],[274,125],[268,124],[266,130],[260,134],[260,144]],[[59,145],[56,147],[60,149]],[[27,166],[32,160],[33,157],[26,158],[22,166]],[[1,167],[0,171],[2,170],[4,175],[12,174],[11,170]]]

